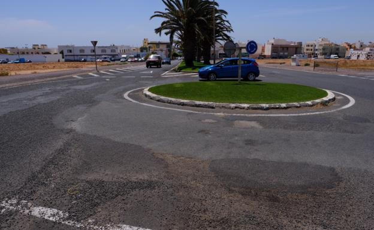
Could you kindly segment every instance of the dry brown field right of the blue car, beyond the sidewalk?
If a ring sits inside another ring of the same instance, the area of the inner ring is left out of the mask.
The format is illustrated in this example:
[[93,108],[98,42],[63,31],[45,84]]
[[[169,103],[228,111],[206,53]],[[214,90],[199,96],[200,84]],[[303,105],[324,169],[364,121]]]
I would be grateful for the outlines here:
[[[291,65],[291,59],[258,59],[256,60],[259,64],[284,64],[284,65]],[[313,66],[313,62],[336,62],[338,61],[339,68],[347,68],[347,69],[357,69],[357,70],[374,70],[374,60],[346,60],[346,59],[301,59],[300,65],[304,66],[305,63],[309,63],[310,66]]]

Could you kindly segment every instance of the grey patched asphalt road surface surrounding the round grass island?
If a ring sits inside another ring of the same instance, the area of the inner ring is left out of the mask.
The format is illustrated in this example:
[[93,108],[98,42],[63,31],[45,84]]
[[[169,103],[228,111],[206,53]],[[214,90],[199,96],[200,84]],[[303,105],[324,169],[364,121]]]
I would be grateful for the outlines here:
[[123,97],[176,64],[0,85],[0,229],[373,229],[374,78],[262,67],[355,100],[305,116]]

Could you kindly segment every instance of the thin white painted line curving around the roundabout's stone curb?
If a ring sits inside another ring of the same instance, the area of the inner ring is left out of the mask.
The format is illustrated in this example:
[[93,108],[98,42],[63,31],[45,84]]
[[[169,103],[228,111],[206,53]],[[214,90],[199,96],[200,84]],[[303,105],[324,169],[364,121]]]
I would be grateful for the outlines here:
[[150,107],[154,107],[154,108],[162,108],[162,109],[168,109],[168,110],[174,110],[174,111],[181,111],[181,112],[187,112],[187,113],[200,113],[200,114],[211,114],[211,115],[221,115],[221,116],[245,116],[245,117],[288,117],[288,116],[305,116],[305,115],[316,115],[316,114],[324,114],[324,113],[332,113],[332,112],[336,112],[336,111],[339,111],[339,110],[343,110],[343,109],[346,109],[346,108],[349,108],[351,106],[353,106],[356,101],[353,97],[347,95],[347,94],[343,94],[341,92],[336,92],[336,91],[332,91],[330,90],[331,92],[334,92],[334,93],[337,93],[337,94],[340,94],[340,95],[343,95],[344,97],[347,97],[348,100],[349,100],[349,103],[340,107],[340,108],[337,108],[337,109],[334,109],[334,110],[328,110],[328,111],[321,111],[321,112],[312,112],[312,113],[293,113],[293,114],[230,114],[230,113],[208,113],[208,112],[198,112],[198,111],[193,111],[193,110],[183,110],[183,109],[179,109],[179,108],[169,108],[169,107],[163,107],[163,106],[158,106],[158,105],[151,105],[151,104],[147,104],[147,103],[142,103],[142,102],[139,102],[139,101],[135,101],[134,99],[131,99],[129,97],[129,94],[133,91],[136,91],[136,90],[139,90],[139,89],[144,89],[144,88],[147,88],[147,87],[142,87],[142,88],[137,88],[137,89],[132,89],[130,91],[127,91],[125,94],[123,94],[123,97],[128,100],[128,101],[131,101],[133,103],[137,103],[137,104],[141,104],[141,105],[146,105],[146,106],[150,106]]

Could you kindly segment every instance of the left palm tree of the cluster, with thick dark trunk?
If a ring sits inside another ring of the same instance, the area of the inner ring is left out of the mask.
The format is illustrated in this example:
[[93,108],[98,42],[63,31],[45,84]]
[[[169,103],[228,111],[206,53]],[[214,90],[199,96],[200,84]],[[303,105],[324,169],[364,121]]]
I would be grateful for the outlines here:
[[186,66],[193,66],[196,54],[197,35],[203,36],[200,28],[206,21],[206,12],[209,12],[210,2],[207,0],[162,0],[166,6],[165,12],[156,11],[150,19],[165,19],[160,27],[154,31],[157,34],[166,31],[171,46],[176,36],[182,42],[183,55]]

